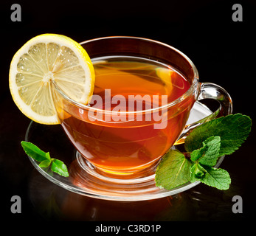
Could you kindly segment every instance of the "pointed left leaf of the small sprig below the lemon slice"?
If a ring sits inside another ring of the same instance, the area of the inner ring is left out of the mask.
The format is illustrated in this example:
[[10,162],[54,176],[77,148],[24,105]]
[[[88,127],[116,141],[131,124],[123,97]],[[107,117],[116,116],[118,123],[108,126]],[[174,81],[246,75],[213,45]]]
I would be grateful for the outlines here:
[[27,156],[35,159],[37,162],[43,162],[48,159],[46,157],[46,153],[36,145],[33,145],[31,142],[22,141],[21,146],[23,147],[25,153],[27,153]]

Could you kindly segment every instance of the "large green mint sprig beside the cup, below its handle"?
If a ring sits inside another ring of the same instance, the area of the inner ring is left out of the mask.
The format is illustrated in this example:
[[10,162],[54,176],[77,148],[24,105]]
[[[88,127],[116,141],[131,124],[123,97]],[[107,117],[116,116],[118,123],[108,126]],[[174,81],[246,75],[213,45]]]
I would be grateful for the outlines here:
[[219,190],[229,189],[229,173],[215,168],[215,164],[221,156],[238,150],[251,126],[250,117],[242,114],[230,114],[198,126],[185,139],[185,153],[170,150],[162,158],[156,168],[156,186],[171,190],[189,181],[201,181]]

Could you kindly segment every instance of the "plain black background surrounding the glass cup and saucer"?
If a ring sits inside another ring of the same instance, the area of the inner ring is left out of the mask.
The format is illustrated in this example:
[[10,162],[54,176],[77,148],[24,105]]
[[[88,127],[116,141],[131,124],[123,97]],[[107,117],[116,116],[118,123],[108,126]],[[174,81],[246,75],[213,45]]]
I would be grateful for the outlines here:
[[[15,3],[21,5],[21,22],[10,18],[10,7]],[[232,6],[236,3],[243,7],[242,22],[232,21]],[[255,1],[1,1],[0,211],[4,219],[15,222],[255,218],[255,15]],[[77,42],[111,35],[138,36],[162,41],[184,52],[195,63],[201,82],[224,87],[232,97],[233,113],[252,118],[249,138],[221,164],[232,177],[230,189],[220,191],[199,184],[173,198],[140,203],[98,201],[74,194],[71,199],[77,206],[68,213],[56,210],[56,203],[46,203],[48,212],[44,210],[45,201],[35,203],[30,192],[32,178],[39,179],[37,183],[41,185],[37,187],[44,194],[47,190],[67,193],[40,176],[21,150],[20,142],[30,119],[13,103],[8,73],[15,52],[30,38],[47,32],[67,35]],[[13,195],[21,197],[21,214],[10,212]],[[242,214],[232,212],[234,195],[243,198]],[[79,206],[79,201],[83,205]]]

